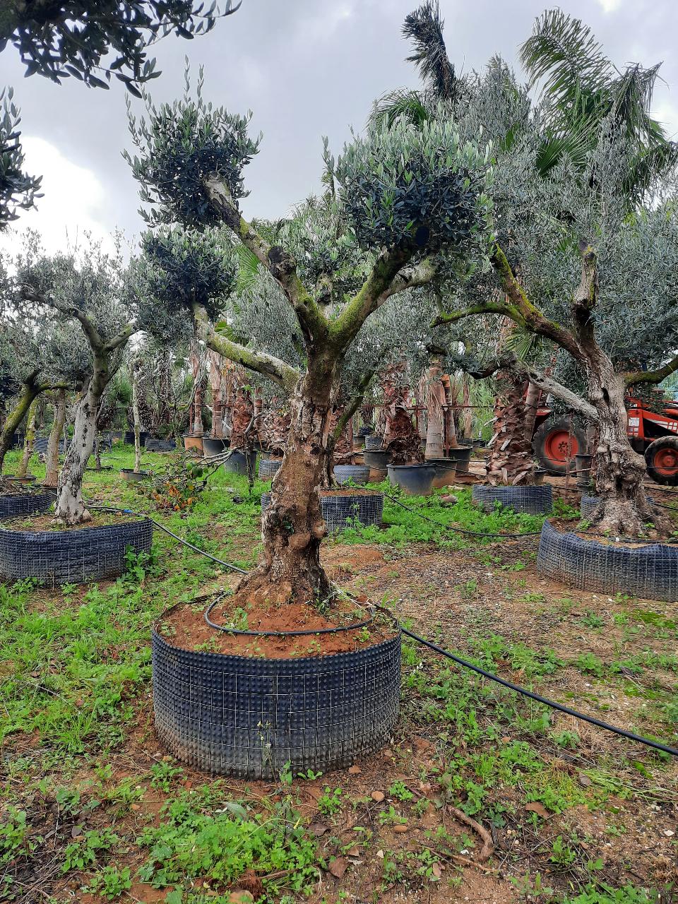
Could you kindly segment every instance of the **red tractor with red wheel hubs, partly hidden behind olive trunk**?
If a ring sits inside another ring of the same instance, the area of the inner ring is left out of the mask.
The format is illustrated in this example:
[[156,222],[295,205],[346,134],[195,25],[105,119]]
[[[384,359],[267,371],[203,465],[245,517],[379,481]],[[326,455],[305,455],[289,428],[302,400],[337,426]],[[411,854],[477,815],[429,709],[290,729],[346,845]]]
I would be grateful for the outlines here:
[[[678,401],[664,400],[661,390],[655,394],[661,410],[636,397],[626,400],[626,432],[636,452],[645,455],[648,475],[658,484],[678,486]],[[551,418],[549,408],[537,410],[535,426],[532,449],[541,467],[573,474],[574,457],[587,447],[583,431],[568,418]]]

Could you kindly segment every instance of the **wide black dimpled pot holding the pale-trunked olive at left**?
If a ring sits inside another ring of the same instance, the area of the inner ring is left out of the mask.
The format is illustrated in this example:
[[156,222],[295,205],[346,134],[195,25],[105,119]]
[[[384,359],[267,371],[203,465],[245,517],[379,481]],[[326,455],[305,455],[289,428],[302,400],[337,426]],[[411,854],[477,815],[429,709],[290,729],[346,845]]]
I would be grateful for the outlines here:
[[118,578],[127,550],[148,552],[152,540],[153,523],[147,518],[67,531],[0,529],[0,576],[52,586]]

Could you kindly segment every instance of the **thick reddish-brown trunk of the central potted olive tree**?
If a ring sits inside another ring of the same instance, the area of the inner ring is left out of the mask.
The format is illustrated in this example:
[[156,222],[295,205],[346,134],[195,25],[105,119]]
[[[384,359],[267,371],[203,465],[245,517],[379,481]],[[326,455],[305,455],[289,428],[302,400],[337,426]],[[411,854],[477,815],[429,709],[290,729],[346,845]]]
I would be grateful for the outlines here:
[[320,564],[325,522],[319,490],[327,467],[332,363],[309,362],[292,392],[287,448],[262,519],[264,561],[240,590],[259,603],[315,603],[330,582]]

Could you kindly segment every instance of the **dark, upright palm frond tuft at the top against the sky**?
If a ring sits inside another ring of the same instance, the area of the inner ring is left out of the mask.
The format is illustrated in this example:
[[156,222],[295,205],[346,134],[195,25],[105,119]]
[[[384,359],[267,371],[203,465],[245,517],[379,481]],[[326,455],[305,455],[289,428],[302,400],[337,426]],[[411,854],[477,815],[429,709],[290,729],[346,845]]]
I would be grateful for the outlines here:
[[408,61],[417,65],[421,78],[434,90],[438,99],[454,101],[457,76],[447,56],[444,25],[438,0],[426,0],[406,16],[402,33],[414,44],[414,52],[407,58]]

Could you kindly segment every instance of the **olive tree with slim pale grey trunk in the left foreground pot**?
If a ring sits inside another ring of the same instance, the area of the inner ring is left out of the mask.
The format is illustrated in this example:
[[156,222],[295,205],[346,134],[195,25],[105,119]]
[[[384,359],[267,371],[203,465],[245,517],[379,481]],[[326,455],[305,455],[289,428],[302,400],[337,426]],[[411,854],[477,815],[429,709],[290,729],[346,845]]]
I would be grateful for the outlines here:
[[55,519],[66,525],[91,520],[82,496],[82,479],[97,435],[99,404],[118,371],[130,336],[136,330],[128,275],[118,256],[99,245],[52,256],[30,249],[16,275],[24,305],[80,326],[88,347],[75,405],[73,438],[57,485]]

